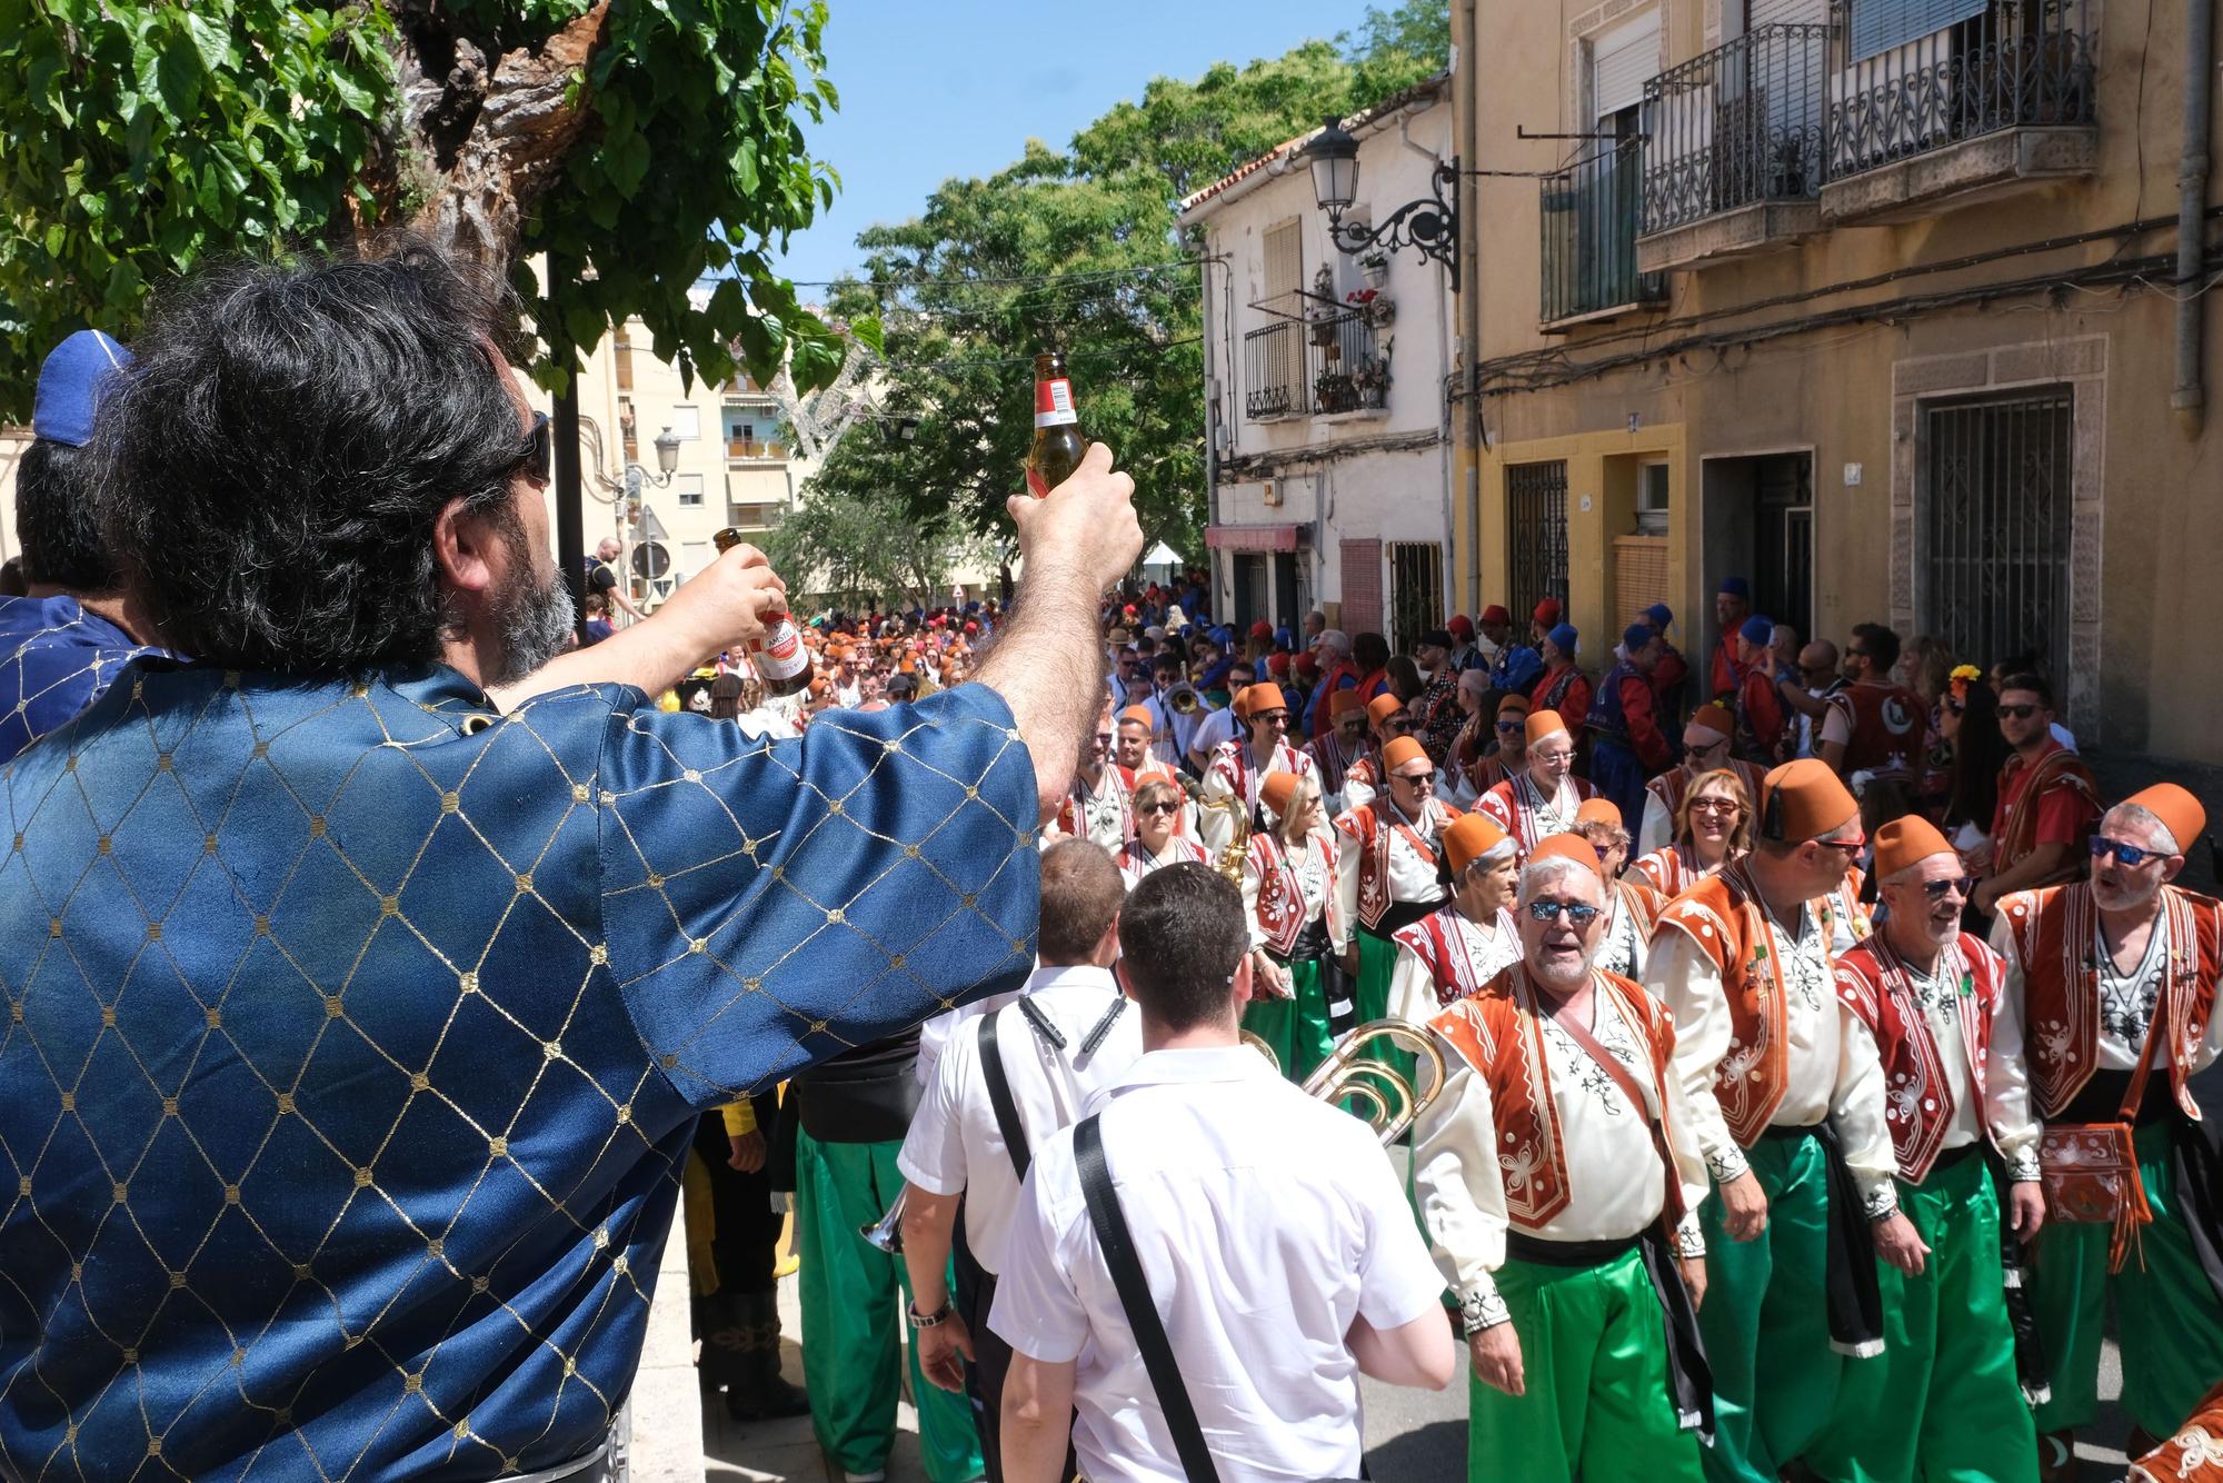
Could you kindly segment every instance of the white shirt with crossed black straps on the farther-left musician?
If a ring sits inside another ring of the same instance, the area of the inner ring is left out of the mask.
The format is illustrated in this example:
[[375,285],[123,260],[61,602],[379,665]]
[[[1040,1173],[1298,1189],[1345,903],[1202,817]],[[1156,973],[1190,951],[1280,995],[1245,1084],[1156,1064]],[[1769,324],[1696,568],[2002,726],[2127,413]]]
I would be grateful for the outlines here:
[[[1058,1049],[1018,1009],[996,1025],[996,1052],[1031,1156],[1054,1132],[1080,1121],[1089,1096],[1143,1054],[1143,1014],[1127,1005],[1096,1049],[1083,1054],[1091,1032],[1125,1003],[1109,969],[1038,967],[1023,996],[1065,1036]],[[967,1014],[954,1027],[896,1154],[903,1178],[927,1194],[965,1194],[965,1243],[987,1272],[1003,1272],[1003,1238],[1018,1203],[1018,1172],[980,1069],[980,1025],[1000,1012],[1003,1005]]]

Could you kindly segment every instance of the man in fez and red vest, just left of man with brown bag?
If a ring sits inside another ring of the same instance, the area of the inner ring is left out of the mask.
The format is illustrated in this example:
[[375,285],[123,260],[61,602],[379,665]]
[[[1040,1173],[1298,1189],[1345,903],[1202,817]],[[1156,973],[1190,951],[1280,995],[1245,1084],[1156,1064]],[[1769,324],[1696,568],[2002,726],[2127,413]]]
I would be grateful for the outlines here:
[[1998,1232],[2001,1196],[2018,1241],[2045,1223],[2021,1016],[2001,956],[1961,932],[1974,880],[1936,825],[1910,814],[1876,829],[1876,874],[1887,916],[1838,956],[1836,989],[1876,1041],[1898,1207],[1923,1250],[1912,1272],[1878,1274],[1883,1356],[1847,1370],[1807,1456],[1827,1479],[2030,1479]]

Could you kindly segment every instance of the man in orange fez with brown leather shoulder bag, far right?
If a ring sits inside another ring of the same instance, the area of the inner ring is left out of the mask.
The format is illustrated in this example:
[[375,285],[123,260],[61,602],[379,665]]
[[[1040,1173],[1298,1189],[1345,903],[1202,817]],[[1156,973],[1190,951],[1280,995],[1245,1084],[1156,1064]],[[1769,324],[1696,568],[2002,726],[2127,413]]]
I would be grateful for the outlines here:
[[[2110,1296],[2123,1410],[2147,1439],[2170,1436],[2223,1376],[2223,1218],[2212,1194],[2223,1170],[2190,1092],[2223,1052],[2223,905],[2174,885],[2205,827],[2205,809],[2174,783],[2132,794],[2101,818],[2090,878],[2003,898],[1992,929],[2027,1032],[2047,1178],[2070,1167],[2061,1154],[2103,1141],[2136,1176],[2136,1198],[2112,1230],[2056,1207],[2032,1263],[2054,1367],[2052,1401],[2038,1407],[2047,1476],[2072,1476],[2074,1430],[2099,1414]],[[2110,1123],[2132,1127],[2130,1149]],[[2143,1230],[2139,1207],[2152,1214]]]

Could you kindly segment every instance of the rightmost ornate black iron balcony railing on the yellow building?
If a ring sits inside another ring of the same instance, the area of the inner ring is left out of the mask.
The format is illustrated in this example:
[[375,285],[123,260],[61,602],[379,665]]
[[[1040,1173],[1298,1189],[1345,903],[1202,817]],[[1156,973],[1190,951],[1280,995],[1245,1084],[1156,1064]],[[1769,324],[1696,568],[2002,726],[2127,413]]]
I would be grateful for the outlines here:
[[1832,180],[2001,129],[2094,122],[2087,0],[1992,0],[1914,38],[1845,0],[1836,13],[1847,64],[1830,78]]

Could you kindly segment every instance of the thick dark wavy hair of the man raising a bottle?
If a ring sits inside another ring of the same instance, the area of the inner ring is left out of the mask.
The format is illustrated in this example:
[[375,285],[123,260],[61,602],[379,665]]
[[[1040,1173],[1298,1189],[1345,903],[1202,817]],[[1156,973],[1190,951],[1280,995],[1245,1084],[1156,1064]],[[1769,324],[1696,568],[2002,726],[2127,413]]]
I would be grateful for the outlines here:
[[416,240],[236,262],[167,293],[102,407],[109,547],[162,636],[238,669],[427,663],[449,500],[516,522],[514,309]]

